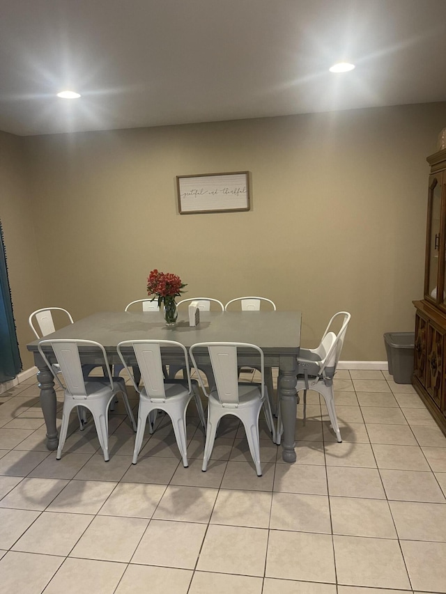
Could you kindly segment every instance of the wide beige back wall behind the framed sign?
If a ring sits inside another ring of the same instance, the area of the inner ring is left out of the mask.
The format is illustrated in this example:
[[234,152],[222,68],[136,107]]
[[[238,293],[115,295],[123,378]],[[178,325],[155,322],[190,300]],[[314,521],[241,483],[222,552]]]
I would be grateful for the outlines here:
[[[445,113],[436,103],[28,137],[43,286],[29,311],[121,310],[157,267],[188,283],[185,297],[258,294],[302,310],[305,345],[347,309],[342,359],[384,360],[383,333],[411,331],[422,297],[425,159]],[[176,175],[245,170],[250,212],[178,214]]]

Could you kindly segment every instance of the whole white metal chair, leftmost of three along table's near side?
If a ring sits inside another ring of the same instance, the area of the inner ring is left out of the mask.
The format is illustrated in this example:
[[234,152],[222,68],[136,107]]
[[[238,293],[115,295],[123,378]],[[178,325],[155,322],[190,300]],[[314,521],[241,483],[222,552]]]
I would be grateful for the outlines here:
[[[89,349],[93,349],[94,352],[98,353],[98,358],[102,359],[102,364],[107,370],[107,377],[84,377],[79,357],[79,346],[89,347]],[[50,364],[47,356],[48,350],[46,350],[46,353],[44,351],[45,347],[52,349],[63,373],[66,386],[63,386],[61,380],[59,380],[59,375]],[[105,348],[95,341],[59,338],[40,341],[38,343],[38,350],[48,368],[52,370],[54,379],[59,382],[64,390],[62,425],[59,435],[59,447],[56,454],[57,460],[61,458],[63,444],[66,441],[70,412],[73,408],[84,407],[93,415],[99,443],[104,453],[104,460],[107,462],[109,460],[108,412],[110,404],[117,393],[121,392],[123,395],[125,409],[135,431],[137,430],[137,426],[128,402],[125,382],[122,377],[112,377]]]

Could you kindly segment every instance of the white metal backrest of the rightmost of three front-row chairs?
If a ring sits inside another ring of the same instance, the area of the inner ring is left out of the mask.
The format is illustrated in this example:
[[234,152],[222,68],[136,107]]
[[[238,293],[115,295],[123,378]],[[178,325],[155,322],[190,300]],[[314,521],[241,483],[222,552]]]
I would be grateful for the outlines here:
[[208,388],[204,385],[201,375],[198,373],[199,365],[196,357],[199,351],[207,350],[215,377],[215,387],[218,398],[223,407],[238,406],[238,350],[245,349],[256,351],[259,355],[261,371],[261,398],[263,400],[265,391],[265,370],[263,351],[260,347],[249,343],[196,343],[190,347],[189,354],[201,389],[209,396]]

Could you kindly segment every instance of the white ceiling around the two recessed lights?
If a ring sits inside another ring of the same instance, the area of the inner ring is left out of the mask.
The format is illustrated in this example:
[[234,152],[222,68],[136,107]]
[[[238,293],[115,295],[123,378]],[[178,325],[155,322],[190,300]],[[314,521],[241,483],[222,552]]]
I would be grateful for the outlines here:
[[0,56],[20,135],[446,101],[446,0],[0,0]]

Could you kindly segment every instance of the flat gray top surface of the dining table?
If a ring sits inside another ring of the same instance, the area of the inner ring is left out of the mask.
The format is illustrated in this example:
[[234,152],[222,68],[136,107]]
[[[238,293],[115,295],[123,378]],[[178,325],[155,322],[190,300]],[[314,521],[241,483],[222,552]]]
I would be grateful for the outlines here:
[[[105,311],[93,313],[45,338],[82,338],[116,352],[121,341],[168,340],[186,348],[201,342],[240,342],[261,347],[273,357],[297,355],[300,345],[300,311],[201,311],[200,322],[190,327],[187,309],[178,313],[174,327],[165,325],[157,311]],[[38,341],[27,345],[37,352]]]

